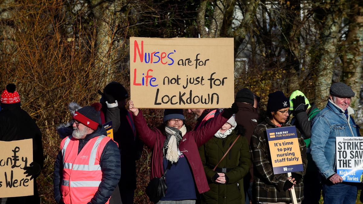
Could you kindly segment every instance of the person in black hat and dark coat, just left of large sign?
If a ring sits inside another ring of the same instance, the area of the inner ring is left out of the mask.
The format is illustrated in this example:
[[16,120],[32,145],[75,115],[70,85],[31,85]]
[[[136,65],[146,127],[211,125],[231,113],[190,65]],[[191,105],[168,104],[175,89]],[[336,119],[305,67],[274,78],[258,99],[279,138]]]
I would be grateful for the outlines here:
[[134,203],[136,160],[140,159],[144,146],[136,132],[131,113],[125,108],[128,97],[121,83],[110,82],[103,89],[101,98],[106,122],[112,121],[114,140],[121,151],[122,180],[118,187],[123,204]]

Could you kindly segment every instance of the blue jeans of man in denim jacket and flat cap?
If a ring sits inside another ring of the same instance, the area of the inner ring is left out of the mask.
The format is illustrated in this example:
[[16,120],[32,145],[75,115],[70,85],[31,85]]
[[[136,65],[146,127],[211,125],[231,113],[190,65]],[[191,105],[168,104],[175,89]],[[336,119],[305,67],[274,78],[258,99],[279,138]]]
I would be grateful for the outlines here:
[[357,187],[348,183],[323,184],[324,203],[355,204]]

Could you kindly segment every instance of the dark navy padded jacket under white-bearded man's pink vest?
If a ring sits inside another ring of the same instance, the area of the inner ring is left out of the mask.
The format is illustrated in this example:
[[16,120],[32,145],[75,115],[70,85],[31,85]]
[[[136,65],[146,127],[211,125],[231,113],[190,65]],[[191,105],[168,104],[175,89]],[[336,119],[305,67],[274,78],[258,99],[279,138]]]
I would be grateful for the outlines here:
[[[78,154],[90,139],[99,135],[107,135],[106,130],[101,125],[98,126],[96,131],[86,135],[84,139],[79,139]],[[118,150],[117,144],[113,140],[107,142],[105,148],[103,149],[99,165],[101,166],[102,171],[102,182],[99,184],[98,191],[90,200],[90,202],[93,204],[106,203],[121,177],[120,151]],[[57,203],[60,203],[62,199],[62,192],[60,189],[63,175],[62,170],[63,156],[62,152],[59,151],[54,164],[53,174],[54,199],[57,201]]]

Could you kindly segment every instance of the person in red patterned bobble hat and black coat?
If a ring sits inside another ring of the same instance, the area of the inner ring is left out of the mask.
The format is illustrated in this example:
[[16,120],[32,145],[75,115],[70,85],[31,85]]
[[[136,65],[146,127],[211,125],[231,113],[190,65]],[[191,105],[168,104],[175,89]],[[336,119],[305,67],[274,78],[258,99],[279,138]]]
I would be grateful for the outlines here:
[[3,200],[6,199],[6,203],[9,204],[40,203],[36,178],[39,176],[44,162],[42,134],[30,115],[21,109],[19,93],[15,89],[15,84],[8,84],[6,90],[1,94],[0,140],[33,139],[33,162],[24,170],[27,170],[26,176],[31,176],[30,179],[34,178],[34,195],[9,197],[3,198]]

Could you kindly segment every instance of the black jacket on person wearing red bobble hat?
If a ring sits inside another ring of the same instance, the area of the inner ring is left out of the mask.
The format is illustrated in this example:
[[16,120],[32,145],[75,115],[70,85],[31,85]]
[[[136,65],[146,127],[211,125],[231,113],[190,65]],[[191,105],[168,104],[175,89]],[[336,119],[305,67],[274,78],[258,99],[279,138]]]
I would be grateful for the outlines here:
[[[42,134],[28,113],[20,108],[20,103],[2,105],[0,111],[0,140],[14,141],[33,139],[33,161],[43,168]],[[35,178],[38,175],[35,176]],[[40,203],[37,185],[34,178],[34,195],[11,197],[7,203]]]

